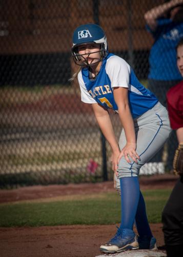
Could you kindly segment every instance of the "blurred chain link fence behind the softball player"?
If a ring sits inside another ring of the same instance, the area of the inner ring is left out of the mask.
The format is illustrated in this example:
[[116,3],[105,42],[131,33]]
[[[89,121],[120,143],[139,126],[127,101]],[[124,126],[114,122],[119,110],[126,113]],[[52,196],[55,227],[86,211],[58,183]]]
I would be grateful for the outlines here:
[[[110,148],[80,101],[73,30],[97,23],[109,50],[147,86],[153,39],[144,13],[164,1],[1,0],[0,188],[111,180]],[[162,92],[164,94],[164,92]],[[116,135],[121,125],[111,114]]]

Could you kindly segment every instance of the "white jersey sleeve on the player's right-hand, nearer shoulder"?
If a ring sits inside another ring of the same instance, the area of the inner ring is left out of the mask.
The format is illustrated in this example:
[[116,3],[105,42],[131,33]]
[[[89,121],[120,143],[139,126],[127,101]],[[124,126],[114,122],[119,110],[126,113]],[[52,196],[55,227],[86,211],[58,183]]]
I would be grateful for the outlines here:
[[131,68],[124,59],[118,56],[111,56],[106,63],[106,73],[109,76],[112,88],[129,88]]

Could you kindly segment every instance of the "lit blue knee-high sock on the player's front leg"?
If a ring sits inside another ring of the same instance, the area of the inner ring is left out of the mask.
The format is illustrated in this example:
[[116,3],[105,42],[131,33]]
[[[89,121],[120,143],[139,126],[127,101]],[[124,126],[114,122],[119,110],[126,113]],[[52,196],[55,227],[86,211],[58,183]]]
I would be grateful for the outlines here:
[[133,229],[139,201],[138,177],[120,178],[121,189],[121,224],[120,229]]

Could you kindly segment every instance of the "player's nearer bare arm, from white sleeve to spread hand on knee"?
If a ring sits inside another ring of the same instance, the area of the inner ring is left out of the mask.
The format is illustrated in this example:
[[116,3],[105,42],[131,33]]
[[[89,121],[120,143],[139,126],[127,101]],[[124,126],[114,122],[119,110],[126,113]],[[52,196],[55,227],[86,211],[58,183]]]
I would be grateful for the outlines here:
[[121,150],[118,157],[118,161],[124,155],[125,159],[131,163],[128,155],[133,161],[137,162],[140,159],[136,153],[136,137],[135,137],[135,127],[132,119],[129,103],[128,103],[128,88],[125,87],[115,87],[113,90],[114,99],[118,106],[118,114],[123,125],[127,143],[125,147]]

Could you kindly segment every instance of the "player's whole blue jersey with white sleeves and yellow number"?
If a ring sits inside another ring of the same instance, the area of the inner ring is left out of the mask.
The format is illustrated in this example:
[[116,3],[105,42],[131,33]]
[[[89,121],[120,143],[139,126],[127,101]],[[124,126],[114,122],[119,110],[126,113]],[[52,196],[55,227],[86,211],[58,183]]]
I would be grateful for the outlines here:
[[157,98],[136,78],[130,65],[122,58],[110,53],[103,60],[100,71],[94,80],[89,79],[88,68],[78,74],[82,101],[98,103],[105,108],[117,111],[113,96],[114,87],[128,88],[128,99],[133,118],[144,114],[157,102]]

